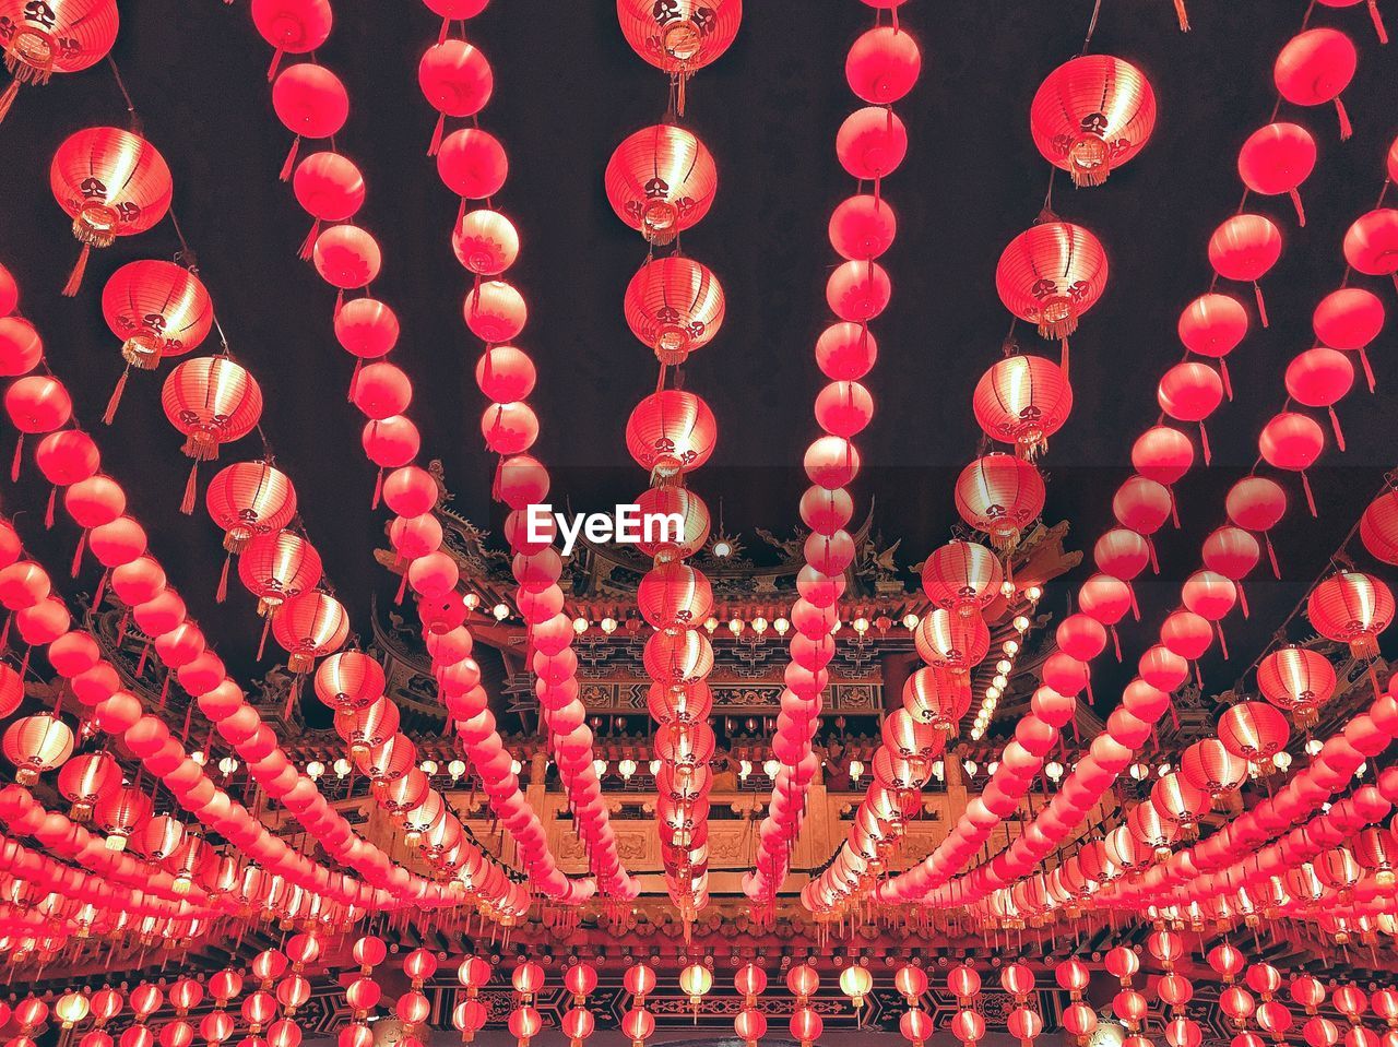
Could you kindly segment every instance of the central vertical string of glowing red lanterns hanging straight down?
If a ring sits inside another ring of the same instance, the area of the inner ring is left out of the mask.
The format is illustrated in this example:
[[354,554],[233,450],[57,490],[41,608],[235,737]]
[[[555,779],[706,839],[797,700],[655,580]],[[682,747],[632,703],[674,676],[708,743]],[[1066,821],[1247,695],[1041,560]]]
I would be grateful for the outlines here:
[[[713,587],[702,570],[685,562],[707,541],[709,510],[686,478],[713,453],[717,422],[703,398],[682,387],[679,368],[717,334],[724,298],[709,267],[679,249],[679,235],[713,203],[717,168],[703,141],[678,120],[689,78],[733,42],[742,4],[619,0],[617,13],[626,42],[670,80],[665,120],[625,138],[603,180],[617,217],[650,245],[624,299],[628,326],[660,363],[656,391],[626,421],[626,450],[650,477],[649,489],[636,502],[643,514],[677,513],[682,520],[678,540],[642,542],[640,551],[653,566],[640,580],[636,602],[656,628],[644,649],[653,681],[653,752],[660,760],[656,821],[665,888],[688,934],[709,903],[707,797],[714,734],[709,725],[713,696],[705,682],[713,670],[713,646],[703,629],[713,609]],[[670,253],[656,253],[665,246]],[[639,1044],[654,1029],[654,1019],[644,1011],[644,990],[636,995],[637,1005],[622,1020],[622,1032]]]

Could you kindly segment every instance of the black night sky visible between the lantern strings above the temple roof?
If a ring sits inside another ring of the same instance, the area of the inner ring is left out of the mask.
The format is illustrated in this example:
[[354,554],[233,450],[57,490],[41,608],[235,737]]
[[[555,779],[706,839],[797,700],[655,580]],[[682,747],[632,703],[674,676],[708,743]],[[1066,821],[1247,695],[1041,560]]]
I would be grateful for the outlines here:
[[[811,347],[830,319],[823,284],[835,263],[825,228],[830,208],[851,192],[833,141],[858,105],[843,60],[872,13],[856,0],[749,0],[747,8],[734,46],[691,84],[686,123],[713,151],[720,185],[709,217],[685,233],[685,249],[716,270],[728,299],[721,334],[686,368],[686,387],[707,398],[720,425],[717,453],[693,486],[716,521],[721,496],[727,528],[749,535],[751,547],[754,527],[784,533],[797,523],[805,486],[798,463],[818,435],[811,404],[823,380]],[[995,260],[1033,221],[1047,182],[1026,126],[1029,101],[1050,70],[1076,55],[1090,10],[1090,0],[903,8],[924,66],[914,92],[896,106],[911,147],[885,185],[899,236],[881,261],[895,295],[874,322],[881,356],[867,384],[877,417],[858,438],[867,470],[856,496],[861,514],[877,499],[878,530],[889,541],[903,538],[905,565],[921,561],[958,521],[951,486],[979,438],[970,391],[1008,327]],[[1272,60],[1304,14],[1304,3],[1289,0],[1192,0],[1194,32],[1181,34],[1169,0],[1103,3],[1093,49],[1146,71],[1159,122],[1148,148],[1106,186],[1074,190],[1060,175],[1055,190],[1055,210],[1096,232],[1111,260],[1106,295],[1074,337],[1072,419],[1043,463],[1047,519],[1069,519],[1071,541],[1089,549],[1109,526],[1131,442],[1155,421],[1155,383],[1180,355],[1176,319],[1206,289],[1208,235],[1240,197],[1237,148],[1267,122]],[[1398,20],[1398,11],[1390,14]],[[270,48],[254,32],[246,0],[126,3],[122,20],[113,55],[145,134],[173,171],[175,207],[200,275],[233,351],[261,383],[263,426],[296,484],[309,534],[356,628],[368,632],[370,594],[391,593],[397,580],[370,555],[384,544],[386,517],[369,512],[373,471],[359,447],[362,418],[345,403],[352,361],[331,334],[334,294],[295,257],[309,221],[277,180],[289,136],[271,110]],[[1286,239],[1265,280],[1272,326],[1264,331],[1254,322],[1229,361],[1237,400],[1209,424],[1213,468],[1197,468],[1180,485],[1186,528],[1159,535],[1165,575],[1139,586],[1148,611],[1174,600],[1180,577],[1198,565],[1201,538],[1223,520],[1222,492],[1251,467],[1257,431],[1285,396],[1282,369],[1311,341],[1316,301],[1339,284],[1341,238],[1378,197],[1398,130],[1398,48],[1378,46],[1363,4],[1320,7],[1313,24],[1343,28],[1360,48],[1359,74],[1345,94],[1355,137],[1338,141],[1329,106],[1282,106],[1281,119],[1307,126],[1320,144],[1320,165],[1303,187],[1310,224],[1296,228],[1285,197],[1250,201]],[[369,186],[358,221],[383,247],[383,275],[372,291],[403,322],[391,359],[415,383],[410,414],[422,429],[422,461],[442,458],[454,506],[493,526],[493,460],[480,436],[484,403],[471,376],[480,345],[461,322],[468,280],[449,243],[457,201],[425,155],[435,113],[417,87],[418,59],[436,32],[436,18],[417,3],[340,0],[334,32],[316,57],[351,94],[337,144]],[[622,137],[661,116],[664,78],[626,46],[608,0],[496,0],[467,38],[495,70],[481,126],[510,157],[496,205],[523,240],[509,278],[528,301],[520,344],[540,368],[531,403],[544,429],[535,452],[554,471],[555,502],[583,509],[630,500],[644,478],[626,456],[622,428],[654,387],[654,361],[626,328],[621,298],[644,243],[611,212],[601,172]],[[0,261],[20,280],[22,312],[43,334],[80,418],[102,429],[105,465],[126,485],[130,512],[219,653],[247,674],[257,633],[252,600],[233,584],[228,604],[214,604],[219,534],[203,509],[190,519],[176,513],[189,461],[158,405],[169,365],[159,377],[133,373],[116,425],[106,431],[96,422],[120,372],[117,342],[101,317],[102,282],[122,261],[171,257],[178,250],[171,224],[98,252],[77,301],[57,294],[77,245],[48,189],[49,158],[78,127],[124,122],[105,66],[21,92],[0,124]],[[1359,280],[1392,302],[1387,281]],[[1246,288],[1225,289],[1251,310]],[[1026,348],[1054,351],[1021,331]],[[1253,619],[1230,623],[1233,663],[1208,663],[1211,686],[1230,685],[1251,661],[1392,464],[1391,345],[1390,324],[1371,347],[1378,396],[1356,390],[1339,407],[1349,453],[1329,449],[1313,474],[1318,521],[1304,517],[1296,479],[1283,478],[1293,510],[1275,537],[1288,582],[1250,583]],[[225,449],[224,460],[256,450],[245,440]],[[77,535],[67,523],[43,535],[48,492],[32,460],[25,477],[18,489],[6,485],[0,502],[8,513],[29,514],[21,533],[57,577]],[[89,559],[77,589],[91,590],[95,573]],[[1064,607],[1068,593],[1057,583],[1050,604]],[[1128,632],[1128,657],[1151,636],[1153,625]]]

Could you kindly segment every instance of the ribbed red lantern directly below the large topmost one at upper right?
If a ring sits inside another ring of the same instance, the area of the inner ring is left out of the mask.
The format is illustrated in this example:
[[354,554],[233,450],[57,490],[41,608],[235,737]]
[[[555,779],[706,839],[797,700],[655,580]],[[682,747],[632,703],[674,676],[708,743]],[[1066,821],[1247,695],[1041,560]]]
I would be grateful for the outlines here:
[[1047,221],[1019,233],[995,266],[1000,301],[1021,320],[1036,324],[1040,337],[1064,342],[1096,305],[1107,285],[1107,253],[1081,225]]

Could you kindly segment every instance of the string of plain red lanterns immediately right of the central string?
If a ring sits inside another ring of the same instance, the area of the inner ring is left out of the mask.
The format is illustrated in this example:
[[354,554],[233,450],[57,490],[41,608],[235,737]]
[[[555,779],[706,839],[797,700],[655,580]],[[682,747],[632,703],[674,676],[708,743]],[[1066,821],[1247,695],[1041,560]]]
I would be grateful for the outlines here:
[[[844,119],[835,144],[840,166],[856,182],[856,193],[835,207],[828,228],[830,246],[843,261],[830,273],[825,289],[836,322],[815,344],[816,366],[829,383],[815,400],[815,418],[823,435],[811,443],[804,460],[811,486],[801,496],[800,512],[812,534],[802,549],[805,566],[797,576],[800,598],[791,607],[797,633],[790,642],[787,691],[772,744],[773,758],[781,769],[773,780],[772,800],[759,828],[752,872],[744,881],[744,893],[769,910],[790,869],[805,815],[807,787],[819,769],[811,746],[829,681],[826,665],[835,654],[835,633],[840,628],[844,573],[854,558],[854,541],[846,530],[854,514],[849,486],[860,471],[853,439],[874,418],[874,400],[861,384],[878,358],[870,322],[884,312],[892,296],[888,273],[875,260],[892,246],[898,232],[893,207],[884,197],[884,178],[899,168],[907,152],[907,130],[892,105],[913,89],[921,71],[921,52],[896,18],[900,4],[870,6],[875,8],[875,25],[850,45],[844,62],[850,91],[864,106]],[[881,24],[886,7],[895,13],[892,25]],[[865,182],[872,192],[864,192]],[[923,725],[910,725],[910,730],[927,735],[931,751],[937,734]],[[849,840],[822,878],[839,875],[837,871],[850,864],[867,868],[881,861],[898,839],[905,816],[902,798],[878,784],[892,766],[886,742],[875,753],[872,766],[874,783],[860,804]],[[914,767],[910,773],[918,772]],[[923,777],[925,780],[925,772]],[[807,892],[812,889],[814,883],[805,888]],[[805,1008],[800,1013],[802,1022],[814,1023],[818,1032],[815,1012]],[[798,1030],[795,1018],[791,1030],[802,1043],[814,1040],[809,1029]]]

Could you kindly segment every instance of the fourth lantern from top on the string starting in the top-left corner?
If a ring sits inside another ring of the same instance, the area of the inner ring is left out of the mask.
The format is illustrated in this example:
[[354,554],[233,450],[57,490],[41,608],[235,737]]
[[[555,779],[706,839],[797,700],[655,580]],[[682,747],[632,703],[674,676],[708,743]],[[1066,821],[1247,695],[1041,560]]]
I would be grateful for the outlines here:
[[[110,284],[108,285],[110,287]],[[180,433],[189,470],[180,512],[194,512],[199,463],[215,461],[218,449],[242,439],[261,418],[261,389],[246,368],[229,356],[200,356],[178,365],[165,379],[161,407]]]

